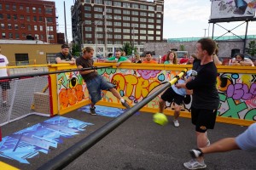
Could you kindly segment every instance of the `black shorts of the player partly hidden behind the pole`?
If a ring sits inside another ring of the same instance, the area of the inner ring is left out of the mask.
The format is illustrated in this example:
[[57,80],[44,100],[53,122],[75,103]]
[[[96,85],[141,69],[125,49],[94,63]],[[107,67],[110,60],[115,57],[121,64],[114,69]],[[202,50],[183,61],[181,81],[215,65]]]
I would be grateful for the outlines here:
[[164,101],[168,101],[170,103],[174,101],[174,103],[176,103],[177,105],[182,105],[184,96],[176,94],[173,91],[172,87],[170,87],[170,88],[167,88],[166,92],[161,95],[161,99],[163,99]]

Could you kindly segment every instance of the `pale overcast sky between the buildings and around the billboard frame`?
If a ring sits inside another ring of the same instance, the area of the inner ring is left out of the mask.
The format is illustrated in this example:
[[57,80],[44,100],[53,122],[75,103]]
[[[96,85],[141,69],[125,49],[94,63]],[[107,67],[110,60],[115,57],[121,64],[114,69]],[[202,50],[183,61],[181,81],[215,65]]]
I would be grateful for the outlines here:
[[[59,32],[65,32],[64,0],[54,0],[57,15],[59,16]],[[73,0],[66,0],[67,39],[72,41],[72,26],[70,7]],[[209,0],[166,0],[164,12],[164,38],[173,37],[212,37],[212,24],[208,24],[211,15]],[[243,22],[218,23],[227,30],[232,30]],[[214,36],[226,33],[220,26],[214,26]],[[208,30],[208,28],[210,28]],[[207,29],[207,30],[205,30]],[[246,24],[236,28],[233,33],[245,35]],[[256,35],[256,21],[249,22],[247,35]],[[232,36],[231,33],[225,36]]]

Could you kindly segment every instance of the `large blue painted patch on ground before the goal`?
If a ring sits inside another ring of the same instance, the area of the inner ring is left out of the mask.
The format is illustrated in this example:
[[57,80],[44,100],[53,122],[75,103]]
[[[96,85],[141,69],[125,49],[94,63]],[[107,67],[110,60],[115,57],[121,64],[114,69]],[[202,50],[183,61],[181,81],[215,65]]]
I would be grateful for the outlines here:
[[27,159],[37,156],[39,152],[47,154],[50,147],[57,148],[63,143],[63,138],[72,138],[90,125],[93,124],[55,116],[4,137],[0,143],[0,156],[29,164]]

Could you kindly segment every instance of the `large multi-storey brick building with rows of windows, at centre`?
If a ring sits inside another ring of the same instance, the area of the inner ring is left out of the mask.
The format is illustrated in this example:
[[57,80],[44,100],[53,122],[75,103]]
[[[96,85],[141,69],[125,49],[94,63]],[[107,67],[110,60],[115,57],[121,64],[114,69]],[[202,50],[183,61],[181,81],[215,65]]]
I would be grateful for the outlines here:
[[77,0],[73,40],[106,56],[125,42],[143,53],[146,42],[163,41],[164,0]]

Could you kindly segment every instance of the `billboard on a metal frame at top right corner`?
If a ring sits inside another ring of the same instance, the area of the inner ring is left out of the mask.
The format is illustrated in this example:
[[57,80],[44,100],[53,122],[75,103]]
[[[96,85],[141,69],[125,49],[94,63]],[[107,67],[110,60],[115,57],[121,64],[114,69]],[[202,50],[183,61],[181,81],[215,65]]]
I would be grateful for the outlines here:
[[212,0],[211,19],[254,17],[256,0]]

